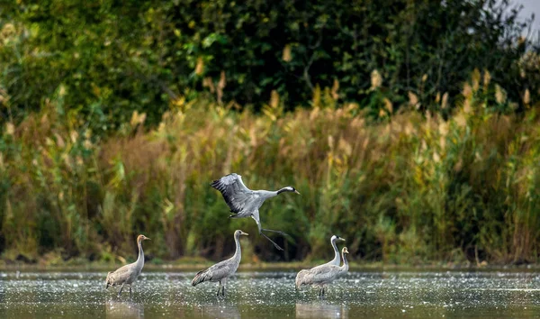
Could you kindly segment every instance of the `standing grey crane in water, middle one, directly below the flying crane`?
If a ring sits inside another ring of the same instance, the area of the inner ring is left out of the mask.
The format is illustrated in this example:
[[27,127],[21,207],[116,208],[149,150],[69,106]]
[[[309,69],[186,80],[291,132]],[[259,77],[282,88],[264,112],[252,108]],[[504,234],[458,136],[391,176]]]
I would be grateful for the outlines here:
[[192,286],[195,287],[198,284],[204,281],[219,282],[217,296],[225,296],[225,284],[227,283],[227,278],[234,275],[240,264],[240,259],[242,258],[242,251],[240,250],[240,235],[247,236],[247,232],[242,232],[237,230],[234,232],[234,241],[236,242],[236,251],[234,255],[228,260],[223,260],[217,264],[211,266],[209,269],[204,269],[195,275],[195,278],[192,280]]

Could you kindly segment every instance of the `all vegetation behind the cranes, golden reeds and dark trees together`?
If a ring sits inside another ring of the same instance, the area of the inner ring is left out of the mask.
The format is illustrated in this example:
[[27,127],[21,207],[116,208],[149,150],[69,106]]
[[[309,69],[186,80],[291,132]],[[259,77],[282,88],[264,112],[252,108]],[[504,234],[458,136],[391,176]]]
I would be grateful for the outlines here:
[[[540,43],[509,1],[0,5],[6,262],[536,262]],[[212,179],[292,185],[227,219]],[[133,255],[133,256],[132,256]]]

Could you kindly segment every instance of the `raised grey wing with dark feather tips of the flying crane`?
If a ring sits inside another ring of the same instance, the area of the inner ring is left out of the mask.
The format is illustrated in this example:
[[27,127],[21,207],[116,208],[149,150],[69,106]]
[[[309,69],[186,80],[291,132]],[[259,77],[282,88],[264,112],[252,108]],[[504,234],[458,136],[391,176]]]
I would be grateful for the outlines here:
[[244,185],[242,177],[236,173],[214,180],[211,187],[221,192],[232,213],[241,212],[255,193]]

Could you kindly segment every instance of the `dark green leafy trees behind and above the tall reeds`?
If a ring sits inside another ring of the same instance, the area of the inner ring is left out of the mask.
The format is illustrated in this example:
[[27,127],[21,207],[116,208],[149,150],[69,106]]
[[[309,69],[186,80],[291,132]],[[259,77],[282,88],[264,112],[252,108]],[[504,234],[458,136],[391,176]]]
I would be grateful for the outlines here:
[[[318,87],[378,114],[383,99],[449,105],[474,68],[523,106],[536,99],[537,65],[527,71],[508,1],[13,1],[0,9],[0,87],[19,121],[59,87],[64,112],[80,110],[94,133],[115,131],[134,110],[159,123],[179,99],[205,93],[254,104],[273,90],[287,108]],[[384,78],[370,90],[371,72]],[[21,115],[21,116],[20,116]]]

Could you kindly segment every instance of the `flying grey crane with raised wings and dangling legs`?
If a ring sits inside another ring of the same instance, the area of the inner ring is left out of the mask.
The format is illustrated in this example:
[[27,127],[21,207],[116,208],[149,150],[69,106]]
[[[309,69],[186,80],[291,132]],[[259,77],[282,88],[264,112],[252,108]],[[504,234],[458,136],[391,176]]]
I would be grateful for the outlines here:
[[211,187],[214,187],[221,192],[223,199],[225,199],[225,202],[227,205],[229,205],[230,212],[234,213],[231,214],[229,218],[253,218],[255,223],[257,223],[259,234],[265,236],[268,241],[272,242],[276,249],[283,251],[283,248],[272,241],[263,232],[277,232],[283,235],[286,235],[286,233],[262,228],[258,209],[261,205],[263,205],[263,203],[265,203],[266,199],[278,196],[281,193],[293,192],[300,195],[300,193],[294,189],[294,187],[283,187],[275,191],[264,189],[251,190],[244,185],[242,177],[236,173],[232,173],[220,179],[214,180],[211,183]]

